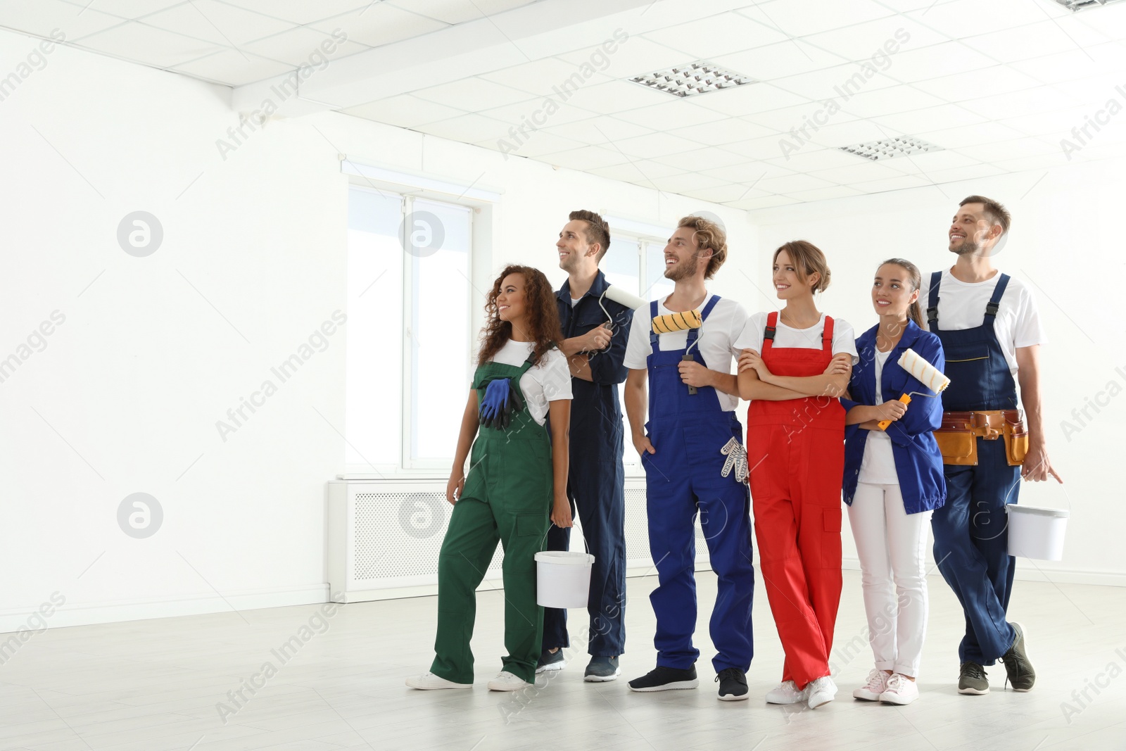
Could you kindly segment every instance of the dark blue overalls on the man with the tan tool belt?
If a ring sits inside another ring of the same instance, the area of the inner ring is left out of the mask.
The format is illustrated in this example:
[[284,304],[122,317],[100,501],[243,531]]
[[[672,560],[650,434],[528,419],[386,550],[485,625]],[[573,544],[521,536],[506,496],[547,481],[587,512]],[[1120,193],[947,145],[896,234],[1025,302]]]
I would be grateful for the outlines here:
[[[985,411],[1017,409],[1017,384],[993,322],[1009,276],[1001,275],[980,327],[957,331],[938,328],[941,271],[930,279],[927,318],[946,354],[950,385],[942,409]],[[935,561],[962,602],[966,635],[958,647],[962,662],[992,665],[1017,637],[1006,619],[1016,560],[1009,555],[1006,503],[1016,503],[1020,466],[1009,466],[1004,440],[977,438],[977,466],[944,465],[946,504],[935,511]]]

